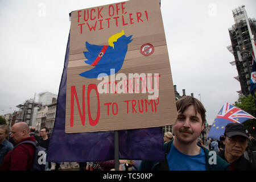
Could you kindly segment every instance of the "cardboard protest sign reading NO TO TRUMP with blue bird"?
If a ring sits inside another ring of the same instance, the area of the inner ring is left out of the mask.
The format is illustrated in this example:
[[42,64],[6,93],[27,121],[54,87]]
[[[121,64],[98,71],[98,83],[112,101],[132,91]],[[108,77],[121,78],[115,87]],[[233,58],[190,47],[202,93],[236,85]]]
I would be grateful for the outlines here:
[[[174,124],[174,86],[158,0],[73,11],[70,41],[66,133]],[[106,75],[97,78],[99,73]]]

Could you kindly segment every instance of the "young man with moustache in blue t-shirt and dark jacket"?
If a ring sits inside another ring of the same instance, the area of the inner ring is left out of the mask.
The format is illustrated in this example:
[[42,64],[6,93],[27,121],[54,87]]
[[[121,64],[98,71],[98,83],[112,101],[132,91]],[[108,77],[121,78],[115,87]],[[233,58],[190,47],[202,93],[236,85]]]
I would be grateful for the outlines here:
[[[174,140],[164,144],[165,160],[143,161],[141,170],[159,171],[223,171],[229,164],[215,152],[197,144],[204,129],[205,109],[196,98],[184,96],[176,101],[177,120],[173,126]],[[210,152],[210,153],[209,153]],[[214,153],[214,152],[213,152]],[[215,158],[212,162],[211,158]]]

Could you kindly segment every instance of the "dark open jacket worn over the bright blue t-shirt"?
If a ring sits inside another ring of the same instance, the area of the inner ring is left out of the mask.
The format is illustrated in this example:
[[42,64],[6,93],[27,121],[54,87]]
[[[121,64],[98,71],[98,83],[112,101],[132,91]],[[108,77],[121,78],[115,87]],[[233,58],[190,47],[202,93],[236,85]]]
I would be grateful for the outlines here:
[[[169,166],[167,162],[167,154],[170,152],[171,144],[173,140],[170,142],[164,143],[164,152],[165,158],[164,161],[142,161],[141,166],[139,167],[139,171],[169,171]],[[216,155],[216,164],[209,164],[209,158],[212,155],[209,155],[209,150],[200,144],[197,144],[199,147],[203,148],[205,153],[205,164],[207,171],[227,171],[229,170],[229,163],[225,160],[221,159],[220,156]]]

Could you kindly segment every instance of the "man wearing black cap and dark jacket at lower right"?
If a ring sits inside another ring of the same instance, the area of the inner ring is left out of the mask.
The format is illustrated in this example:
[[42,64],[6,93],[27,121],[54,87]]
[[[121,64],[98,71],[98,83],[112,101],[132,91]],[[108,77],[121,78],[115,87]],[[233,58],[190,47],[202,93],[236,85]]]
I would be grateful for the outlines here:
[[256,165],[243,156],[249,139],[246,128],[240,123],[229,123],[224,136],[225,150],[220,152],[220,156],[230,163],[230,171],[256,171]]

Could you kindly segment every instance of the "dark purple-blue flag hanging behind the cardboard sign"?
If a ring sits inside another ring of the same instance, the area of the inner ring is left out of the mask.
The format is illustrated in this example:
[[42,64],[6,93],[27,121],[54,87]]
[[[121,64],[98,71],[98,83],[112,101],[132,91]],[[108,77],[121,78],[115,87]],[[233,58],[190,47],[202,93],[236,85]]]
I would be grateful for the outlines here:
[[[95,162],[114,159],[114,131],[65,133],[69,38],[57,97],[56,118],[47,162]],[[163,160],[162,127],[119,130],[119,159]]]

